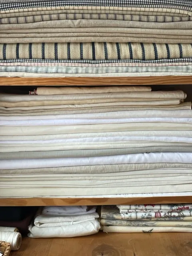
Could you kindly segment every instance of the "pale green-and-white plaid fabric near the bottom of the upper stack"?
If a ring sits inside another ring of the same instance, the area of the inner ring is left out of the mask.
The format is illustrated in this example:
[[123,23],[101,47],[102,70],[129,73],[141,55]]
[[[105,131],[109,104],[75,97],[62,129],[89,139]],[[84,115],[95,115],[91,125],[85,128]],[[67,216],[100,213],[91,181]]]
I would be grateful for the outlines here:
[[192,72],[190,66],[159,66],[159,67],[30,67],[30,66],[0,66],[0,72],[27,73],[64,73],[64,74],[107,74],[107,73],[137,73],[137,72]]

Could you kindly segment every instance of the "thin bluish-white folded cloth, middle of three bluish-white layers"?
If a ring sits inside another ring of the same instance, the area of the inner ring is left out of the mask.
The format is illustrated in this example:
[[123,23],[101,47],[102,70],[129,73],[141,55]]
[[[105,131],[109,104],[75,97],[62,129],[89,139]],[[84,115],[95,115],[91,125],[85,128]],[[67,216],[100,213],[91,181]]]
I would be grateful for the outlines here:
[[[68,136],[70,138],[70,136]],[[20,144],[65,144],[68,142],[122,142],[122,141],[160,141],[160,142],[182,142],[192,143],[192,137],[156,137],[156,136],[122,136],[122,137],[91,137],[91,138],[74,138],[63,140],[0,140],[2,146],[19,146]]]

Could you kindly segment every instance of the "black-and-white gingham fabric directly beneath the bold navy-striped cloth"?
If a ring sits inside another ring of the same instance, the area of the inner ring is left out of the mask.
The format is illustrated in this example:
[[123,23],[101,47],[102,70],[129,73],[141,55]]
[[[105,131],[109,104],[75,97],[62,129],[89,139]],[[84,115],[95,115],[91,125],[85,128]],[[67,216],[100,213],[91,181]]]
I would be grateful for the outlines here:
[[175,59],[161,59],[161,60],[42,60],[42,59],[12,59],[0,60],[0,63],[44,63],[44,64],[120,64],[120,63],[133,63],[133,64],[174,64],[174,63],[187,63],[192,62],[192,58],[175,58]]

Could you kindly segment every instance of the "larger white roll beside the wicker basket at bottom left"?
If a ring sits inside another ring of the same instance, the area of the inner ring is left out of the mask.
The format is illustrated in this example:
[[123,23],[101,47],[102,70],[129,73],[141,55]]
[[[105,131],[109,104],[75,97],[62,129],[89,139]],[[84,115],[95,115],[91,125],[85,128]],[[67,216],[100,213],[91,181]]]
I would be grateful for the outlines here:
[[22,237],[19,232],[0,231],[0,240],[11,244],[11,250],[18,250],[21,246]]

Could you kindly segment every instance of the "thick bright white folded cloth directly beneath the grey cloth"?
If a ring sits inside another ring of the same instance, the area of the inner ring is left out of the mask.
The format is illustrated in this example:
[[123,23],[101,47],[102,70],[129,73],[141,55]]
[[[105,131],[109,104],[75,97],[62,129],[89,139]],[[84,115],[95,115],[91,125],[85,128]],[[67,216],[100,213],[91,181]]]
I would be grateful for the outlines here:
[[192,152],[142,153],[117,156],[92,156],[77,158],[0,160],[0,170],[84,166],[102,164],[135,163],[188,163],[192,164]]

